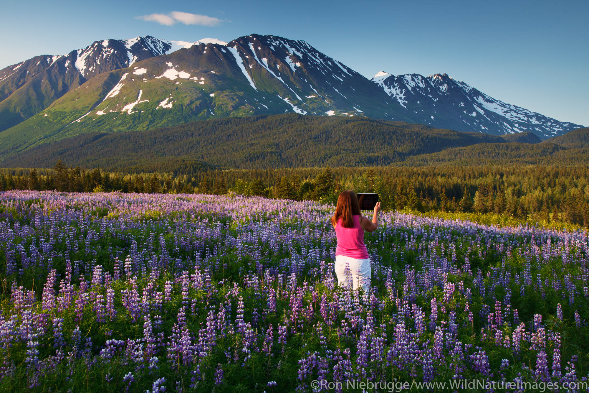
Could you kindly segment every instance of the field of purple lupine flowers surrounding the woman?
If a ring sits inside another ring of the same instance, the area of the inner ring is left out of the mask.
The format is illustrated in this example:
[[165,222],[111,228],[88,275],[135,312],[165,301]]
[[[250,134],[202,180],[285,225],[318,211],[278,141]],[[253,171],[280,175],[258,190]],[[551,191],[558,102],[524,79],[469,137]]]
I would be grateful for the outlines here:
[[336,284],[332,213],[257,197],[3,192],[0,389],[587,378],[586,231],[381,214],[366,234],[372,292],[358,293]]

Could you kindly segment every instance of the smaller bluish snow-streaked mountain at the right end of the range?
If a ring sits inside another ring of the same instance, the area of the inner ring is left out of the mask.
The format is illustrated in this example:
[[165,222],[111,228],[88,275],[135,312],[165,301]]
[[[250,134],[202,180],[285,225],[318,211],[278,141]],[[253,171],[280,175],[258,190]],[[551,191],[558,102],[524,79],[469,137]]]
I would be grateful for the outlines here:
[[494,135],[530,131],[541,139],[580,127],[496,100],[447,74],[394,76],[380,71],[370,81],[414,123]]

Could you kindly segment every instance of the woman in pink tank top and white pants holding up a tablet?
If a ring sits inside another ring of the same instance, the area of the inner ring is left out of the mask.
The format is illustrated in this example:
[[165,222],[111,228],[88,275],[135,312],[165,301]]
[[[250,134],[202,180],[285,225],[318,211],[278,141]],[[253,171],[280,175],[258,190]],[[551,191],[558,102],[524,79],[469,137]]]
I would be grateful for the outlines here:
[[352,273],[353,289],[363,286],[365,292],[370,289],[370,257],[364,244],[364,231],[372,232],[378,228],[380,202],[376,202],[372,221],[360,215],[356,193],[348,189],[339,194],[332,225],[337,237],[335,250],[335,273],[340,285],[348,285],[346,266]]

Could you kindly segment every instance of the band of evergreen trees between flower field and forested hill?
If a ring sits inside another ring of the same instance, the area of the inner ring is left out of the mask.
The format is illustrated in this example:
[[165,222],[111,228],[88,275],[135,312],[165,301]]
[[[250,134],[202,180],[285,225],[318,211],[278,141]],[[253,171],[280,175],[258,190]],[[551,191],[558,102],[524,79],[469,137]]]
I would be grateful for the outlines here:
[[427,166],[366,168],[203,168],[194,176],[118,173],[66,166],[4,169],[0,191],[120,191],[258,195],[337,201],[344,189],[378,192],[385,210],[481,212],[589,225],[587,166]]

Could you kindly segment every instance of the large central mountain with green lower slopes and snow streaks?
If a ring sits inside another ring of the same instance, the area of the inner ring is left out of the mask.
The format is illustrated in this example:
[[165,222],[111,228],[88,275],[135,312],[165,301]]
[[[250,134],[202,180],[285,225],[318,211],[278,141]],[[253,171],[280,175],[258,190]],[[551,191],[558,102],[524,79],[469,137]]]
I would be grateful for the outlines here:
[[147,130],[255,114],[392,120],[388,98],[304,41],[254,34],[227,45],[200,42],[102,73],[0,133],[0,146],[6,154],[84,132]]

